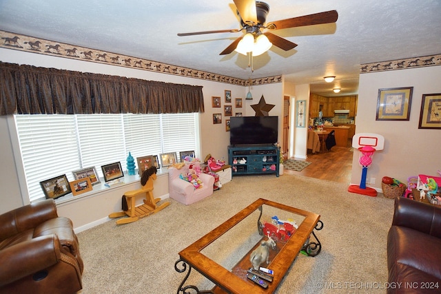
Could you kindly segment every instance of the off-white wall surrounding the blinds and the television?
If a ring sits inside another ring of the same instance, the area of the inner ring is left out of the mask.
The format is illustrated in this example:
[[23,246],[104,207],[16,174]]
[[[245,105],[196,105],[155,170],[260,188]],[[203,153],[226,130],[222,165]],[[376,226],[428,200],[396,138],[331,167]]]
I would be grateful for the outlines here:
[[[223,106],[225,105],[225,90],[232,91],[233,114],[242,112],[243,116],[254,116],[252,104],[257,104],[260,96],[265,96],[268,104],[276,105],[271,109],[271,116],[280,116],[282,112],[281,101],[283,101],[282,83],[252,86],[251,92],[254,97],[252,101],[246,101],[245,96],[248,87],[231,85],[227,83],[217,83],[214,81],[205,81],[197,78],[183,76],[174,76],[161,74],[157,72],[147,72],[145,70],[136,70],[115,65],[105,65],[101,63],[90,63],[88,61],[77,61],[73,59],[63,59],[43,54],[34,54],[30,52],[21,52],[17,50],[8,50],[0,48],[0,61],[5,63],[27,64],[40,67],[54,67],[61,70],[74,70],[79,72],[92,72],[99,74],[110,74],[116,76],[126,76],[130,78],[141,78],[149,81],[165,81],[167,83],[181,83],[187,85],[202,85],[205,104],[205,112],[200,115],[201,122],[201,154],[196,156],[203,160],[207,154],[212,154],[216,159],[228,159],[227,146],[229,145],[229,132],[225,130],[225,119]],[[221,97],[220,108],[212,107],[212,96]],[[243,98],[243,107],[236,108],[234,98]],[[230,105],[230,103],[228,103]],[[223,123],[213,124],[212,114],[222,113]],[[9,117],[10,118],[10,117]],[[227,117],[228,118],[228,117]],[[279,140],[281,135],[281,123],[279,123]],[[8,118],[0,116],[0,184],[3,193],[0,195],[1,207],[0,213],[28,204],[22,200],[20,182],[24,181],[23,176],[19,176],[14,162],[14,149],[10,134],[8,131]],[[68,172],[68,171],[66,171]],[[44,179],[43,179],[44,180]],[[154,185],[155,198],[167,198],[168,178],[167,174],[158,176]],[[74,201],[57,204],[59,215],[71,218],[76,229],[87,229],[90,225],[107,220],[107,216],[116,211],[121,211],[121,196],[124,191],[138,189],[139,182],[130,185],[108,189],[105,193],[96,193],[94,196],[76,198]],[[27,196],[23,197],[27,199]],[[137,202],[141,202],[137,200]]]

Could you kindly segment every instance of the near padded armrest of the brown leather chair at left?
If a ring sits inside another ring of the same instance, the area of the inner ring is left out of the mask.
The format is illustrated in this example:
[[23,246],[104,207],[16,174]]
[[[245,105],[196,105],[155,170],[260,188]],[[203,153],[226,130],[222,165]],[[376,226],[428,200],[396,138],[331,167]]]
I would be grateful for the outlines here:
[[0,251],[0,287],[57,264],[61,256],[57,235],[20,242]]

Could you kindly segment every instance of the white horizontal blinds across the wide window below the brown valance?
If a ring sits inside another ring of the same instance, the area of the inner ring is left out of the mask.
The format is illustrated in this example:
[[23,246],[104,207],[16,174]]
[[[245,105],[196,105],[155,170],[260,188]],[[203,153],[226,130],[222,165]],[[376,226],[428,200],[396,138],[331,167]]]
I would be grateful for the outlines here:
[[[38,114],[14,115],[30,201],[44,198],[39,182],[72,171],[179,151],[198,152],[198,115]],[[17,162],[19,164],[20,162]]]

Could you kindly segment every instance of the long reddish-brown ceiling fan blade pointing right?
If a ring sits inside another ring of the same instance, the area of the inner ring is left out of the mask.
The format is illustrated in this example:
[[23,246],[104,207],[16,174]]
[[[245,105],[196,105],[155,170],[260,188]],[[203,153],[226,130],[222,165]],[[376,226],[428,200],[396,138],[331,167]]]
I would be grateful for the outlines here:
[[292,19],[273,21],[267,24],[267,28],[269,30],[281,30],[286,28],[302,27],[305,25],[320,25],[322,23],[335,23],[337,19],[337,11],[330,10],[326,12],[304,15],[302,17],[293,17]]

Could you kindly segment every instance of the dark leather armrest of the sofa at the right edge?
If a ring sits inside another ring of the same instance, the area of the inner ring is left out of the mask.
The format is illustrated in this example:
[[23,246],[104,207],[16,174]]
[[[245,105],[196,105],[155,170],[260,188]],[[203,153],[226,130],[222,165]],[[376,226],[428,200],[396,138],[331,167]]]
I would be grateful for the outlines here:
[[395,198],[392,225],[441,238],[441,207],[404,197]]

